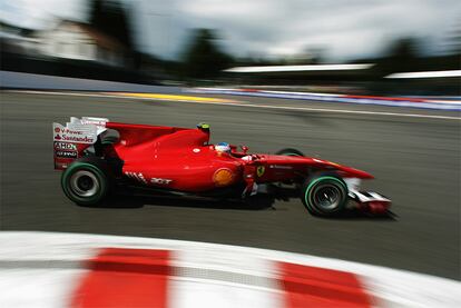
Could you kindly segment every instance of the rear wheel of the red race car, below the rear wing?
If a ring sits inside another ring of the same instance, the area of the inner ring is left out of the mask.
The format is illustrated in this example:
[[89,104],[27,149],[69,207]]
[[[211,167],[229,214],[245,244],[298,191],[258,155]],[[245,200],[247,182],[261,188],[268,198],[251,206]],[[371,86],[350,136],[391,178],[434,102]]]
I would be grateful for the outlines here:
[[65,195],[79,206],[97,206],[111,192],[114,177],[106,161],[98,157],[75,160],[61,175]]

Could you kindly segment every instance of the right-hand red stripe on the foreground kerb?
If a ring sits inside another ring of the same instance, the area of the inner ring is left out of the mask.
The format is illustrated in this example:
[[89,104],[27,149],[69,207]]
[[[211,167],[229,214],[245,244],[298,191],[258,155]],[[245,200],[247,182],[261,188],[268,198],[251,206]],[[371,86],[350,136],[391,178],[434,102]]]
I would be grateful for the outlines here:
[[278,269],[285,307],[372,307],[371,297],[351,272],[286,262],[278,262]]

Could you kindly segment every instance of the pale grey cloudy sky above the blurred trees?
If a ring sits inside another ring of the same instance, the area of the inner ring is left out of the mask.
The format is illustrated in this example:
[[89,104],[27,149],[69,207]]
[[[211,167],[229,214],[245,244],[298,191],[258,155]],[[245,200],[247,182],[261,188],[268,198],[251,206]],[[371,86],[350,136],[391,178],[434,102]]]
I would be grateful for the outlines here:
[[[400,37],[421,51],[447,49],[461,28],[460,0],[121,0],[136,44],[166,59],[180,56],[194,28],[216,29],[237,57],[295,57],[321,49],[330,61],[377,57]],[[52,17],[85,21],[88,0],[0,0],[0,19],[46,28]]]

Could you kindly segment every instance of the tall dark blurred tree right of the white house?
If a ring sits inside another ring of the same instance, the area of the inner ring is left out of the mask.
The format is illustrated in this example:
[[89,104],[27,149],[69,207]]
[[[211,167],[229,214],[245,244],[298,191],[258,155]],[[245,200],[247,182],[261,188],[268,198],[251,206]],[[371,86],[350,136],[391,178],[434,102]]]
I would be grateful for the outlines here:
[[117,38],[129,50],[134,50],[133,30],[124,6],[117,0],[90,1],[90,24],[102,33]]

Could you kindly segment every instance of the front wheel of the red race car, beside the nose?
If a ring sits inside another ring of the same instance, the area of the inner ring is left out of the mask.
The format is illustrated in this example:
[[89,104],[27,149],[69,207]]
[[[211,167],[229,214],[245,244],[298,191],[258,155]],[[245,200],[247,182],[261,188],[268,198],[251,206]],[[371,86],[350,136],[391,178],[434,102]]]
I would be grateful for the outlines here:
[[347,205],[347,185],[335,173],[314,175],[304,181],[301,200],[314,216],[334,217]]

